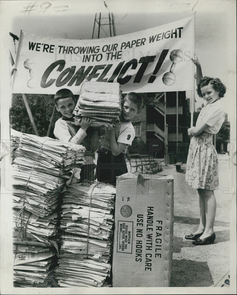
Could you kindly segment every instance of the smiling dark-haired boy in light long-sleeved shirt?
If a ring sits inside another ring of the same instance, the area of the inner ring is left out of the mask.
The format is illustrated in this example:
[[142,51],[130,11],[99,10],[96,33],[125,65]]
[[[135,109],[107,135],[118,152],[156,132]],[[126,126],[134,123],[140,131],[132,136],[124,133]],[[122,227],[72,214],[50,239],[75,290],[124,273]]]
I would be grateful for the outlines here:
[[[88,135],[88,129],[91,128],[89,127],[91,119],[87,117],[82,117],[81,119],[74,118],[75,99],[72,91],[69,89],[64,88],[57,91],[54,95],[54,102],[57,111],[62,114],[62,117],[55,122],[54,136],[62,141],[81,144]],[[84,156],[86,163],[80,167],[80,181],[95,180],[95,164],[92,155],[93,151],[90,150],[90,146],[87,144]]]

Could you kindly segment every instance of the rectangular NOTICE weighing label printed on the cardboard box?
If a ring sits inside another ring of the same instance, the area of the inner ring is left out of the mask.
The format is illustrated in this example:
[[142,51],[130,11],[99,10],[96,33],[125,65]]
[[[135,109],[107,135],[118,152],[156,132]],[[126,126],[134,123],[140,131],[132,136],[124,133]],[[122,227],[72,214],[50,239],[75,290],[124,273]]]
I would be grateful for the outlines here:
[[118,220],[117,252],[132,253],[133,222]]

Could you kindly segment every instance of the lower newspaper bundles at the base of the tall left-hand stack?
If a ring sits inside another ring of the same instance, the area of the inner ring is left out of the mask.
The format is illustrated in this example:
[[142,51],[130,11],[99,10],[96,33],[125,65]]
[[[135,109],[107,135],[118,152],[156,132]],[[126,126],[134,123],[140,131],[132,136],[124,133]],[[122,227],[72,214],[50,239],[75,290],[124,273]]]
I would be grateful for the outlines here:
[[[13,283],[15,287],[51,287],[55,285],[53,269],[57,262],[57,212],[38,217],[13,209]],[[19,230],[24,224],[23,232]]]

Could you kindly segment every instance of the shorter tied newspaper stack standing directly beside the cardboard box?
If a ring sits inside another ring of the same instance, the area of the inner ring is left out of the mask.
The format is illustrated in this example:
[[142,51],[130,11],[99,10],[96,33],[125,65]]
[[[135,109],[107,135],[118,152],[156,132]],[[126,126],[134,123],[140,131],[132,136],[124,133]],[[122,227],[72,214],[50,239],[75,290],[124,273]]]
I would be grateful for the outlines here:
[[67,186],[63,196],[62,245],[55,269],[59,286],[101,287],[111,269],[116,189],[104,183]]

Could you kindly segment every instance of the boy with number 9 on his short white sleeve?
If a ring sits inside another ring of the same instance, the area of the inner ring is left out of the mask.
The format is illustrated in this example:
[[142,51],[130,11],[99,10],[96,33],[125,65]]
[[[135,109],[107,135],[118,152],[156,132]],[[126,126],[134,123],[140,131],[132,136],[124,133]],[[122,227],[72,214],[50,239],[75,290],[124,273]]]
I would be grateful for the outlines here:
[[98,181],[116,186],[116,176],[128,172],[125,153],[135,137],[130,120],[141,111],[142,103],[142,97],[135,92],[128,93],[122,100],[121,123],[105,131],[102,147],[98,150]]

